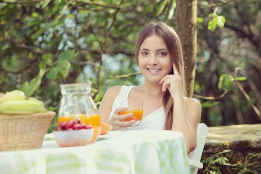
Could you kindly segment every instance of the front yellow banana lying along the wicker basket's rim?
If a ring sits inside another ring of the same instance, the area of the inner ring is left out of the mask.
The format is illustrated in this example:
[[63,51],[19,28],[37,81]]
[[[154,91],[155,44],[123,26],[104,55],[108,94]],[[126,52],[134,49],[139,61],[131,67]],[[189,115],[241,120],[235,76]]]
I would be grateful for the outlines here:
[[11,100],[0,104],[0,113],[28,114],[40,111],[40,104],[32,100]]

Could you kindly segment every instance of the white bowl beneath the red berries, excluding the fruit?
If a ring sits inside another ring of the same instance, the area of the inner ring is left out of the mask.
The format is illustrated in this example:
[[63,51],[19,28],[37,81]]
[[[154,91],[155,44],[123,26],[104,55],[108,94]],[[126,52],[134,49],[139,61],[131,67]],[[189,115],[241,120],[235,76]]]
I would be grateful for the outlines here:
[[54,139],[60,147],[85,146],[90,143],[93,128],[69,131],[53,131]]

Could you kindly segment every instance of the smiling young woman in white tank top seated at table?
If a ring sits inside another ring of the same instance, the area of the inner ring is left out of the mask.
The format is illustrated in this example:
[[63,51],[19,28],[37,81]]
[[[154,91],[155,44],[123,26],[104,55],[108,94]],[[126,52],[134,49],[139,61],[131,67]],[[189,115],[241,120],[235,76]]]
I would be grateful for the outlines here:
[[[113,130],[182,132],[187,153],[193,151],[201,105],[186,97],[182,48],[176,32],[164,22],[146,25],[139,33],[135,54],[144,85],[110,87],[100,103],[101,120]],[[122,121],[132,116],[119,114],[127,109],[120,107],[122,100],[142,101],[143,118],[138,126],[131,126],[134,120]]]

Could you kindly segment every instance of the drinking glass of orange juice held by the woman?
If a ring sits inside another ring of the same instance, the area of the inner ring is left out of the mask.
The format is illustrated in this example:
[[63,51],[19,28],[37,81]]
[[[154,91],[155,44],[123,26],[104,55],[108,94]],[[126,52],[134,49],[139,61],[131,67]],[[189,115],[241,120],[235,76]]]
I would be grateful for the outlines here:
[[123,119],[122,121],[135,120],[135,122],[133,124],[131,124],[131,126],[137,126],[140,124],[140,122],[142,120],[142,116],[143,116],[143,105],[140,100],[124,100],[124,101],[121,101],[120,106],[127,107],[127,110],[121,111],[119,113],[120,115],[127,114],[130,112],[133,114],[132,117]]

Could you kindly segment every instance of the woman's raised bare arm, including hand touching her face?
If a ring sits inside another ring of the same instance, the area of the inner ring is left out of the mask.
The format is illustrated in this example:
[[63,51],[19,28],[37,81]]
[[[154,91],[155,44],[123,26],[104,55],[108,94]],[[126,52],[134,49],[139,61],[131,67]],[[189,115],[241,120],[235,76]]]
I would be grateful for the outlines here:
[[[173,75],[166,75],[159,84],[162,84],[162,91],[170,91],[173,103],[173,124],[172,130],[183,134],[186,143],[187,153],[196,148],[196,128],[200,121],[201,105],[193,98],[183,97],[182,79],[173,64]],[[185,89],[184,89],[185,90]]]

